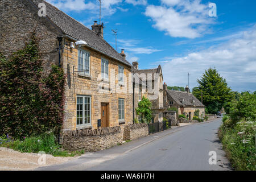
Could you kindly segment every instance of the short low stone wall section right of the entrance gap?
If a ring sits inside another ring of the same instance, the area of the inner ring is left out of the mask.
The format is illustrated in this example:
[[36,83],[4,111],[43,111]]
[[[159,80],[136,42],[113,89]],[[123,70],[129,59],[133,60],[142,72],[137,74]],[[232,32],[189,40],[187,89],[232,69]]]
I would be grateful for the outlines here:
[[123,131],[123,140],[135,140],[148,135],[147,123],[126,125]]

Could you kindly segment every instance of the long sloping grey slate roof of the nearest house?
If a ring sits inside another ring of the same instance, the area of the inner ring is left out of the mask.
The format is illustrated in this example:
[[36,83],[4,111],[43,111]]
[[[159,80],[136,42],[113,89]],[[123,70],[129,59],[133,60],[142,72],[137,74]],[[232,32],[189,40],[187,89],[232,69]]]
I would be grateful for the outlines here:
[[108,42],[98,36],[94,31],[85,27],[71,16],[65,14],[63,11],[57,9],[55,6],[44,0],[32,0],[32,2],[36,5],[36,7],[38,7],[39,3],[45,3],[47,18],[51,20],[57,27],[59,27],[60,31],[63,32],[64,35],[71,36],[77,40],[84,40],[89,47],[105,53],[105,55],[113,57],[114,59],[131,67],[131,64],[124,59],[120,53],[115,51],[115,49],[110,46]]

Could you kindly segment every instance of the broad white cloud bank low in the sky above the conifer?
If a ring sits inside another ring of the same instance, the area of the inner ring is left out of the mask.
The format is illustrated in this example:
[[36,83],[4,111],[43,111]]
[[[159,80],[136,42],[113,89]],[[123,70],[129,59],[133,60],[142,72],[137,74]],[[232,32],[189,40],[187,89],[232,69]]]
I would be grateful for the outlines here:
[[164,81],[172,86],[187,85],[189,72],[192,89],[205,69],[215,67],[234,90],[256,90],[256,26],[243,31],[241,38],[166,61]]

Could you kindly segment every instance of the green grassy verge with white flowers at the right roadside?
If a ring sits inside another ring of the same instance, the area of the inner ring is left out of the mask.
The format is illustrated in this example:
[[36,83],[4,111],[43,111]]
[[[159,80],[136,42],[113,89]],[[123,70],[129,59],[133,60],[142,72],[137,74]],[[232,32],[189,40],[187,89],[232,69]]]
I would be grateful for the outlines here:
[[239,171],[256,170],[255,127],[256,122],[240,121],[229,126],[230,119],[224,117],[224,123],[218,131],[227,157],[232,167]]

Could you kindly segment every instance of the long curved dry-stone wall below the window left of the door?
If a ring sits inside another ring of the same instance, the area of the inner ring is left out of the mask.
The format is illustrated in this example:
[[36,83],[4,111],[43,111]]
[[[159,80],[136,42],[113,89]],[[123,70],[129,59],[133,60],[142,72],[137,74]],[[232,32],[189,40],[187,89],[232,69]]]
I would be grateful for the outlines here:
[[106,127],[103,129],[81,129],[64,131],[61,135],[63,148],[69,151],[85,150],[100,151],[122,142],[121,127]]

